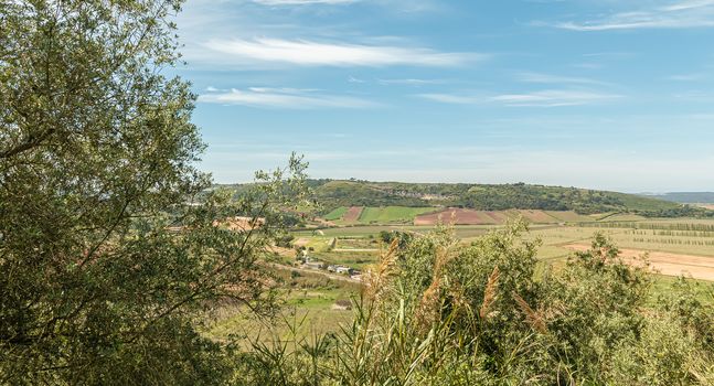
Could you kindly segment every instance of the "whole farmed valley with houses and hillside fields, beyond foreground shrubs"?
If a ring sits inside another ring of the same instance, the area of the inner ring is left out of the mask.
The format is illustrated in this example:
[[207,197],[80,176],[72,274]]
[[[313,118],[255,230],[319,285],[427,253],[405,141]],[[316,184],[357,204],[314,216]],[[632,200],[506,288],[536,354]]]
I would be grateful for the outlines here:
[[[339,335],[355,322],[359,312],[349,308],[360,304],[366,291],[362,286],[371,278],[365,272],[380,261],[390,242],[435,240],[435,230],[446,230],[458,250],[466,250],[518,219],[529,224],[520,239],[537,245],[533,262],[537,278],[564,275],[572,267],[568,259],[587,253],[595,236],[603,234],[617,246],[624,264],[649,271],[643,274],[651,279],[646,303],[672,296],[681,277],[688,278],[684,285],[694,288],[699,301],[713,301],[714,218],[701,212],[706,211],[703,206],[519,184],[470,185],[463,191],[465,186],[444,184],[329,181],[317,187],[321,208],[290,229],[291,248],[280,254],[284,303],[276,318],[268,321],[246,317],[239,308],[222,308],[207,323],[206,336],[227,341],[238,334],[246,337],[247,350],[265,344],[290,352],[299,349],[283,342]],[[490,195],[501,191],[509,196]],[[463,197],[473,201],[459,201]],[[693,216],[675,216],[690,211]]]

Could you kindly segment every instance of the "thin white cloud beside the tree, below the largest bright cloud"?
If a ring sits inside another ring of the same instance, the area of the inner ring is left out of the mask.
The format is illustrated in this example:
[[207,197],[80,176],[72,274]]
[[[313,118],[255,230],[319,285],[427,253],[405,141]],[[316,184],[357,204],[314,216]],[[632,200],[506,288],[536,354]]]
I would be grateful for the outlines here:
[[[215,88],[213,88],[215,89]],[[313,109],[313,108],[370,108],[379,105],[361,98],[321,95],[315,89],[249,87],[226,92],[210,92],[199,96],[200,103],[239,105],[249,107]]]

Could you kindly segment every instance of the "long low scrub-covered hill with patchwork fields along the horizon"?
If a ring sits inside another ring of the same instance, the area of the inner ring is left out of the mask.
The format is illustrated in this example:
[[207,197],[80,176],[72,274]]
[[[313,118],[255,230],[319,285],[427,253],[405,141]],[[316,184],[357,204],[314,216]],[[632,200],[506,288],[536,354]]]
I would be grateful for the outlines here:
[[449,206],[480,211],[542,210],[579,214],[633,213],[648,217],[703,216],[707,211],[653,196],[577,187],[310,180],[324,213],[349,206]]

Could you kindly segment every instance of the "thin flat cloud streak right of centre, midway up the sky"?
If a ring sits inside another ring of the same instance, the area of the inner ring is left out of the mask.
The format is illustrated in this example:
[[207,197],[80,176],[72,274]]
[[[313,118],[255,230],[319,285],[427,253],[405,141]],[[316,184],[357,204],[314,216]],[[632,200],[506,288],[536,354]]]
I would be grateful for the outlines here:
[[473,104],[501,104],[504,106],[513,107],[562,107],[562,106],[580,106],[603,103],[616,98],[621,98],[621,95],[603,94],[595,92],[580,92],[580,90],[542,90],[523,94],[502,94],[495,96],[469,96],[469,95],[454,95],[454,94],[420,94],[422,98],[457,105],[473,105]]

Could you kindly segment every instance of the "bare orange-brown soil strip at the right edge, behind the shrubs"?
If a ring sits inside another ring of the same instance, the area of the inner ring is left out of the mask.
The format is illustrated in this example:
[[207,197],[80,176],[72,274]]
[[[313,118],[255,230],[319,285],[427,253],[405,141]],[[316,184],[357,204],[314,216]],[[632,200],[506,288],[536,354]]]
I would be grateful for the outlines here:
[[[589,245],[585,244],[569,244],[565,248],[572,250],[587,250]],[[628,264],[639,265],[641,260],[638,258],[648,254],[650,268],[658,274],[667,276],[692,276],[694,279],[714,280],[714,258],[681,255],[663,251],[647,251],[641,249],[620,249],[620,257]]]

